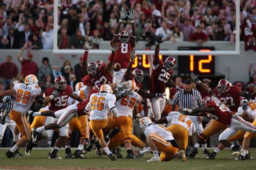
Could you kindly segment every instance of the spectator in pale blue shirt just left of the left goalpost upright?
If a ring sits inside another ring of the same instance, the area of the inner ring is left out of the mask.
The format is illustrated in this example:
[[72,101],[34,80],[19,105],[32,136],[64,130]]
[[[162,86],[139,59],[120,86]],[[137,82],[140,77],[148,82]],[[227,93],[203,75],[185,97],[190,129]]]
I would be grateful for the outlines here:
[[41,40],[44,49],[52,49],[53,47],[53,29],[49,24],[45,26],[45,31],[41,34]]

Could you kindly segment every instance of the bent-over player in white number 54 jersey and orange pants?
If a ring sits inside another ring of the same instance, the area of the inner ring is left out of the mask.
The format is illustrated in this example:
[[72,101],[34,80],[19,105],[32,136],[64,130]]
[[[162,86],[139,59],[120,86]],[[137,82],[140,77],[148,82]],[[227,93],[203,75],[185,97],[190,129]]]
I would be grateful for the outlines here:
[[195,125],[189,116],[172,111],[166,117],[162,117],[157,123],[168,124],[167,129],[172,132],[172,136],[177,140],[179,150],[186,150],[189,144],[189,136],[195,132]]

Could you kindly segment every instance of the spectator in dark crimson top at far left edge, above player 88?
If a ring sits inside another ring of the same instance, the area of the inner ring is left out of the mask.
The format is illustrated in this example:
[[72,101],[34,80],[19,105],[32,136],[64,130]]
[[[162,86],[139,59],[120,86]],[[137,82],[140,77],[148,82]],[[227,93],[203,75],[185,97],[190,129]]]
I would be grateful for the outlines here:
[[18,74],[17,65],[12,62],[12,56],[6,56],[6,62],[0,65],[0,77],[3,81],[4,89],[11,83],[13,78],[16,78]]

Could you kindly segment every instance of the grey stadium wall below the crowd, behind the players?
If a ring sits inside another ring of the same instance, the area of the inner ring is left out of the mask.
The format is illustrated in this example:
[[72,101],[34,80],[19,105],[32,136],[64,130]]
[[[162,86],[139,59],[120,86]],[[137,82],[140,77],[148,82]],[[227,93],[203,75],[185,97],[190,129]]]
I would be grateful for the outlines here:
[[[136,49],[143,50],[145,49],[145,44],[147,42],[138,42],[136,44]],[[161,50],[177,50],[179,46],[197,46],[195,42],[164,42],[161,44]],[[209,41],[204,43],[203,46],[214,46],[215,50],[235,50],[235,44],[231,44],[230,42],[225,41]],[[100,49],[110,49],[110,42],[105,41],[101,42],[99,45]],[[154,46],[151,47],[154,49]],[[21,65],[17,61],[17,54],[20,50],[0,50],[0,62],[5,61],[7,55],[11,55],[13,57],[13,61],[17,63],[17,66],[21,68]],[[32,54],[34,56],[34,61],[38,63],[38,66],[41,65],[42,57],[48,57],[51,66],[59,65],[62,67],[63,61],[65,59],[69,59],[72,66],[79,62],[80,55],[76,55],[76,57],[72,57],[70,55],[62,55],[64,58],[60,59],[58,54],[52,54],[52,50],[32,50]],[[215,75],[225,74],[226,70],[229,69],[229,74],[227,79],[230,82],[234,81],[249,81],[248,75],[248,65],[252,61],[256,63],[255,51],[244,51],[244,42],[240,42],[240,56],[216,56],[215,57]],[[26,58],[26,51],[23,52],[22,57]],[[175,57],[175,56],[174,56]],[[177,59],[177,57],[175,57]],[[96,61],[98,59],[102,59],[103,61],[108,60],[108,55],[90,55],[88,57],[88,62]],[[182,62],[182,61],[178,61]],[[175,69],[175,75],[177,75],[177,69]]]

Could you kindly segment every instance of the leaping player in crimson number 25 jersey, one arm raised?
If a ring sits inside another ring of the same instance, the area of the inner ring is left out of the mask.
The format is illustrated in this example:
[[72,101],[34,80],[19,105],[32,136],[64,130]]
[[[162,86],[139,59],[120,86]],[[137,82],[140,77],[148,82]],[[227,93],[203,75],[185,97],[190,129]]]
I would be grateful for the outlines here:
[[163,94],[164,96],[163,98],[154,97],[150,99],[152,116],[155,121],[158,121],[160,119],[161,113],[165,106],[166,99],[164,94],[166,89],[166,83],[171,82],[172,84],[175,84],[172,79],[170,79],[170,76],[173,74],[173,68],[176,66],[175,58],[168,57],[163,62],[158,57],[160,43],[163,42],[162,39],[163,34],[159,34],[156,36],[153,69],[149,80],[149,92],[155,94]]

